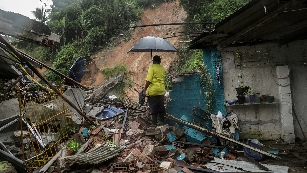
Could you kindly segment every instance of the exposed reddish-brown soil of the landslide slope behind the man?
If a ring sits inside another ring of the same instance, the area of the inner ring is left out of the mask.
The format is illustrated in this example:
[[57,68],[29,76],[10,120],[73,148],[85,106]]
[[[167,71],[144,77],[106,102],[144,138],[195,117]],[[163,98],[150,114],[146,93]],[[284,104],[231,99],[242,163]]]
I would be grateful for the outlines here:
[[[173,10],[176,13],[173,13]],[[164,3],[158,6],[156,9],[146,9],[142,14],[142,20],[138,25],[158,24],[158,23],[179,23],[183,22],[186,16],[185,11],[178,7],[178,2]],[[104,48],[102,51],[96,53],[92,59],[93,62],[87,65],[82,84],[87,86],[97,86],[104,82],[103,74],[99,74],[100,69],[106,67],[113,67],[116,64],[122,65],[127,64],[127,69],[130,71],[130,79],[138,83],[141,86],[145,85],[147,70],[150,66],[150,53],[148,52],[134,52],[126,54],[131,47],[134,46],[138,40],[143,37],[153,36],[156,37],[170,37],[173,36],[172,32],[179,32],[182,30],[181,25],[169,25],[169,26],[151,26],[135,28],[132,31],[131,40],[128,42],[123,41],[123,37],[118,37],[114,41],[115,47]],[[179,43],[180,37],[166,39],[172,43],[175,47],[181,46]],[[152,56],[161,56],[161,65],[168,70],[170,62],[177,56],[177,53],[162,53],[153,52]],[[134,88],[141,91],[141,87],[134,84]],[[126,93],[129,99],[134,101],[138,100],[138,97],[132,93],[129,89],[126,89]],[[137,93],[138,94],[138,93]]]

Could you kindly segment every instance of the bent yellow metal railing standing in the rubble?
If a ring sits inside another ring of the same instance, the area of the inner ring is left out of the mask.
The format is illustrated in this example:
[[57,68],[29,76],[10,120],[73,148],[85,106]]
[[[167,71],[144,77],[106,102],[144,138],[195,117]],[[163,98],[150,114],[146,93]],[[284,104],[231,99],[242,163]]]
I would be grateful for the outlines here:
[[21,100],[18,90],[23,161],[27,168],[38,168],[66,145],[75,126],[68,104],[53,91]]

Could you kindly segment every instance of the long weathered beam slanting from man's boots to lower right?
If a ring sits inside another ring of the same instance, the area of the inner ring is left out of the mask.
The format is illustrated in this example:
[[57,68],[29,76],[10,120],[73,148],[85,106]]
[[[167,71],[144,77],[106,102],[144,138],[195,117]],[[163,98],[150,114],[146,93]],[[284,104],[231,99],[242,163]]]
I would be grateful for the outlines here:
[[196,126],[195,124],[192,124],[192,123],[190,123],[190,122],[188,122],[188,121],[185,121],[184,119],[177,118],[177,117],[175,117],[175,116],[173,116],[173,115],[170,115],[170,114],[167,114],[167,113],[165,113],[165,114],[166,114],[166,115],[165,115],[165,118],[170,119],[171,121],[173,121],[173,122],[175,122],[175,123],[182,124],[182,125],[184,125],[184,126],[186,126],[186,127],[190,127],[190,128],[192,128],[192,129],[195,129],[195,130],[197,130],[197,131],[206,133],[206,134],[208,134],[208,135],[216,136],[217,138],[224,139],[224,140],[227,140],[227,141],[229,141],[229,142],[232,142],[232,143],[236,143],[236,144],[242,145],[242,146],[244,146],[244,147],[250,148],[250,149],[252,149],[252,150],[254,150],[254,151],[257,151],[257,152],[259,152],[259,153],[262,153],[262,154],[264,154],[264,155],[270,156],[270,157],[272,157],[272,158],[274,158],[274,159],[276,159],[276,160],[281,159],[280,157],[278,157],[278,156],[276,156],[276,155],[273,155],[273,154],[268,153],[268,152],[266,152],[266,151],[259,150],[258,148],[255,148],[255,147],[252,147],[252,146],[250,146],[250,145],[247,145],[246,143],[242,143],[242,142],[240,142],[240,141],[237,141],[237,140],[235,140],[235,139],[229,138],[229,137],[224,136],[224,135],[222,135],[222,134],[219,134],[219,133],[210,131],[210,130],[205,129],[205,128],[203,128],[203,127]]

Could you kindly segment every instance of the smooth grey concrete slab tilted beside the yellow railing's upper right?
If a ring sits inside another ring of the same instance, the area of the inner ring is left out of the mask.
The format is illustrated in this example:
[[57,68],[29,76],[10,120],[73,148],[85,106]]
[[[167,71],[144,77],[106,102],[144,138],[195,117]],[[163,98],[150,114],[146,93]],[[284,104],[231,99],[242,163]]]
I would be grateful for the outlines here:
[[[75,99],[74,95],[75,95],[76,99]],[[72,87],[72,88],[69,88],[65,91],[64,96],[69,101],[71,101],[77,108],[79,108],[79,106],[80,106],[81,109],[83,109],[85,96],[86,96],[85,91],[83,91],[80,88],[73,88]],[[78,106],[78,104],[79,104],[79,106]],[[76,115],[78,115],[79,118],[82,119],[82,116],[76,110],[74,110],[70,105],[68,105],[68,108],[69,108],[71,114],[75,113]],[[81,111],[83,111],[83,110],[81,110]]]

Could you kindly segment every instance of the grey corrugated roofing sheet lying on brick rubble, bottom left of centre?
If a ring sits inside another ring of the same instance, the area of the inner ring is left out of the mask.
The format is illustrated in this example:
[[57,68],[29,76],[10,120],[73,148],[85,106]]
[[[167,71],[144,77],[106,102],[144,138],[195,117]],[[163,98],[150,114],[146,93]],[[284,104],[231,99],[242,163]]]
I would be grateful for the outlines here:
[[98,164],[119,155],[119,152],[124,148],[125,147],[123,146],[119,146],[113,149],[109,147],[108,143],[103,143],[100,146],[94,147],[92,150],[87,151],[86,153],[73,155],[63,159],[80,163]]

